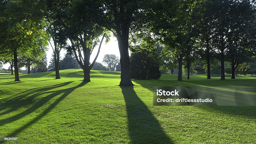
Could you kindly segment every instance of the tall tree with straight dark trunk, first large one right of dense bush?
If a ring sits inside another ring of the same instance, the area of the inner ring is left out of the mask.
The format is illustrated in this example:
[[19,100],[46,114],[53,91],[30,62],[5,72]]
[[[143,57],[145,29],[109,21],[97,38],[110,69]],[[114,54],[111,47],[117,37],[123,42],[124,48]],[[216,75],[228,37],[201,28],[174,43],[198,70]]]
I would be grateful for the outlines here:
[[[192,52],[191,47],[195,42],[193,32],[194,26],[191,20],[191,12],[194,7],[194,1],[178,1],[176,5],[177,14],[174,16],[171,11],[172,7],[167,8],[166,14],[163,16],[162,24],[154,28],[154,33],[159,40],[170,49],[178,60],[178,80],[182,81],[182,63],[185,55],[189,56]],[[188,76],[189,78],[189,76]]]

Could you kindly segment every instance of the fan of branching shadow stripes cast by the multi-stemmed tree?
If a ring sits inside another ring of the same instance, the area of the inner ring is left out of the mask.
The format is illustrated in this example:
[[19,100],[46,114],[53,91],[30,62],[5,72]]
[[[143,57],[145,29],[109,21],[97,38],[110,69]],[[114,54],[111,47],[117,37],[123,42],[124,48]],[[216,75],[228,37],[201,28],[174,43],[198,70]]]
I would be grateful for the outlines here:
[[[42,117],[46,116],[48,114],[48,112],[50,112],[57,104],[59,104],[59,102],[61,100],[63,100],[66,96],[68,96],[73,90],[75,90],[76,88],[82,87],[82,86],[87,84],[87,83],[80,83],[79,85],[71,87],[71,88],[60,89],[60,90],[56,90],[56,91],[49,91],[49,90],[57,88],[57,87],[66,86],[66,85],[68,85],[70,83],[72,83],[72,81],[71,82],[62,83],[62,84],[59,84],[59,85],[54,85],[54,86],[43,87],[43,88],[39,88],[39,89],[32,89],[30,91],[25,92],[25,94],[21,94],[21,95],[17,96],[20,99],[22,99],[20,101],[21,103],[17,103],[17,105],[15,107],[13,107],[13,108],[5,111],[5,112],[2,112],[0,114],[0,116],[4,115],[4,114],[8,114],[10,112],[13,112],[13,111],[17,110],[18,108],[27,106],[28,105],[27,102],[28,103],[31,102],[31,100],[33,100],[35,97],[38,97],[39,95],[49,94],[48,96],[40,98],[39,101],[37,101],[35,104],[33,104],[31,107],[29,107],[25,111],[23,111],[23,112],[21,112],[21,113],[19,113],[17,115],[8,117],[6,119],[0,120],[0,126],[2,126],[4,124],[11,123],[11,122],[13,122],[15,120],[23,118],[23,117],[31,114],[32,112],[36,111],[37,109],[39,109],[40,107],[42,107],[46,103],[49,103],[52,98],[54,98],[56,96],[60,96],[56,100],[54,100],[54,102],[51,102],[50,106],[48,106],[39,115],[37,115],[35,118],[33,118],[32,120],[30,120],[29,122],[24,124],[22,127],[16,129],[15,131],[13,131],[12,133],[10,133],[8,135],[9,137],[16,136],[19,132],[23,131],[28,126],[33,125],[35,122],[40,120]],[[28,97],[26,97],[26,95],[28,95]],[[25,97],[25,98],[23,98],[23,97]],[[14,98],[14,99],[16,99],[16,98]],[[12,105],[12,104],[14,104],[13,103],[14,101],[15,100],[10,99],[10,100],[8,100],[6,105]],[[3,108],[1,108],[1,109],[3,109]]]

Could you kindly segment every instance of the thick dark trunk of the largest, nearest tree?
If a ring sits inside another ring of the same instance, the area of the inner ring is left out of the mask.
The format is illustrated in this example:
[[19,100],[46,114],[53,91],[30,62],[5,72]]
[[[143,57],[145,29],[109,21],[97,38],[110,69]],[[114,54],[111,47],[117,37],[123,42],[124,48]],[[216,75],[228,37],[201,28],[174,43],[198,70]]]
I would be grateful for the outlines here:
[[130,58],[129,58],[129,27],[123,28],[122,34],[117,35],[118,48],[120,52],[121,81],[119,86],[134,85],[130,76]]

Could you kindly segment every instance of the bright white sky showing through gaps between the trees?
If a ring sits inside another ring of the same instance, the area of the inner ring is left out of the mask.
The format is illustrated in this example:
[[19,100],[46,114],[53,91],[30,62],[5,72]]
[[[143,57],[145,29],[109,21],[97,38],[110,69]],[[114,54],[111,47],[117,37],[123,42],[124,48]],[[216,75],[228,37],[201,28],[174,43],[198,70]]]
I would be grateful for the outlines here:
[[[100,38],[100,40],[101,40],[101,38]],[[52,57],[52,52],[53,51],[52,51],[52,48],[51,48],[50,44],[48,45],[48,48],[49,49],[46,52],[46,54],[47,54],[46,57],[47,57],[47,63],[49,65],[49,62],[50,62],[50,59]],[[97,55],[98,48],[99,48],[99,45],[97,45],[94,48],[94,50],[92,52],[92,55],[90,57],[90,62],[92,62],[94,60],[95,56]],[[66,50],[62,49],[61,52],[60,52],[61,59],[64,57],[65,54],[66,54]],[[101,49],[100,49],[100,53],[99,53],[99,56],[98,56],[96,61],[98,63],[102,63],[103,57],[106,54],[114,54],[114,55],[116,55],[120,58],[120,53],[119,53],[119,49],[118,49],[118,42],[117,42],[115,37],[111,37],[110,41],[107,44],[105,44],[105,39],[103,40],[102,45],[101,45]],[[9,66],[10,66],[9,63],[7,63],[3,66],[3,68],[8,69]],[[22,68],[22,69],[25,69],[25,68]]]

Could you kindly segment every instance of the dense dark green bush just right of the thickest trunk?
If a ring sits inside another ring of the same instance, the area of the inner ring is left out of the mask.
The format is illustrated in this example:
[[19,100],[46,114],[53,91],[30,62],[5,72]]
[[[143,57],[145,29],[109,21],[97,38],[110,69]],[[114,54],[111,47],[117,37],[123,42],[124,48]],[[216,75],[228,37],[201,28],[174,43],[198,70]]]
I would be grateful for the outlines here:
[[157,50],[151,52],[136,46],[141,52],[132,53],[130,56],[130,74],[132,79],[159,79],[159,59]]

